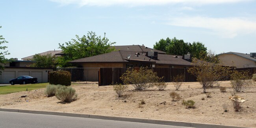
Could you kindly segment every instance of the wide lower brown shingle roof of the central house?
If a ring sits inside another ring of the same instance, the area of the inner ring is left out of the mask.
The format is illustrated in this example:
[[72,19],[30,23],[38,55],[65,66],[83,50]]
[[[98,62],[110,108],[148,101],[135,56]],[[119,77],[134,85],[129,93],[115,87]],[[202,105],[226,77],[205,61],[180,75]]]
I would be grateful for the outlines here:
[[[139,53],[140,55],[138,55],[137,57],[135,53]],[[130,56],[130,59],[127,58],[128,56]],[[73,60],[71,61],[71,63],[129,62],[129,61],[141,61],[145,63],[191,66],[191,62],[188,62],[187,60],[182,59],[182,56],[176,58],[176,55],[158,54],[158,60],[154,60],[154,59],[151,59],[150,57],[147,57],[145,51],[143,52],[114,51],[110,53],[96,55],[93,57],[86,57],[78,60]]]

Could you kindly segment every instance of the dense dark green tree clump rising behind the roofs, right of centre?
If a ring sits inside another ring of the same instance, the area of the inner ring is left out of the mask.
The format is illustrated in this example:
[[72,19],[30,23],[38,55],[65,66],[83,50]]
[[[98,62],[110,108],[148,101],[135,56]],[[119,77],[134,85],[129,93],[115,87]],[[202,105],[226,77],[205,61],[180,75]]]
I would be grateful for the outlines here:
[[171,55],[185,55],[188,52],[194,55],[197,59],[202,59],[207,54],[207,48],[201,42],[184,42],[184,40],[178,40],[176,37],[166,40],[161,39],[156,42],[154,49],[165,51],[167,54]]

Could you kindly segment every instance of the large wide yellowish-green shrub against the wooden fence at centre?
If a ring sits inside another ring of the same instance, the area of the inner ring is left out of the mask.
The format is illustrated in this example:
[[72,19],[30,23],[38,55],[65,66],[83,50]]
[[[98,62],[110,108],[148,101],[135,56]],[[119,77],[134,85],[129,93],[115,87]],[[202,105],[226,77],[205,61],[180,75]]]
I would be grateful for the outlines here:
[[120,79],[124,84],[132,84],[134,90],[140,91],[153,87],[160,78],[151,69],[141,67],[138,71],[133,68],[127,69]]

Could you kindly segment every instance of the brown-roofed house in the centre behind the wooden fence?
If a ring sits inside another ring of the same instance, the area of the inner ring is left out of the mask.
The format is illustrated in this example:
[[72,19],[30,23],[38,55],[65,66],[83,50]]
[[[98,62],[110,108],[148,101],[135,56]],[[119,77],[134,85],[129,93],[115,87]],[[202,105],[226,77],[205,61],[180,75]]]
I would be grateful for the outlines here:
[[118,51],[73,60],[70,63],[79,64],[83,69],[83,79],[98,81],[99,68],[129,68],[129,67],[156,67],[156,68],[189,68],[191,62],[182,59],[182,56],[167,55],[164,51],[153,50],[140,45],[113,46]]

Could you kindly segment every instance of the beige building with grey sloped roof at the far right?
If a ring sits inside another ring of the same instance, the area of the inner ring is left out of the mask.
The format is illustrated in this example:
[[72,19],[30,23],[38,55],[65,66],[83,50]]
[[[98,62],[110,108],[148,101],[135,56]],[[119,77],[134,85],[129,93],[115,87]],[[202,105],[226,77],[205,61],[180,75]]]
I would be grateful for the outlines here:
[[235,66],[236,68],[256,67],[256,53],[228,52],[219,54],[218,58],[226,66]]

